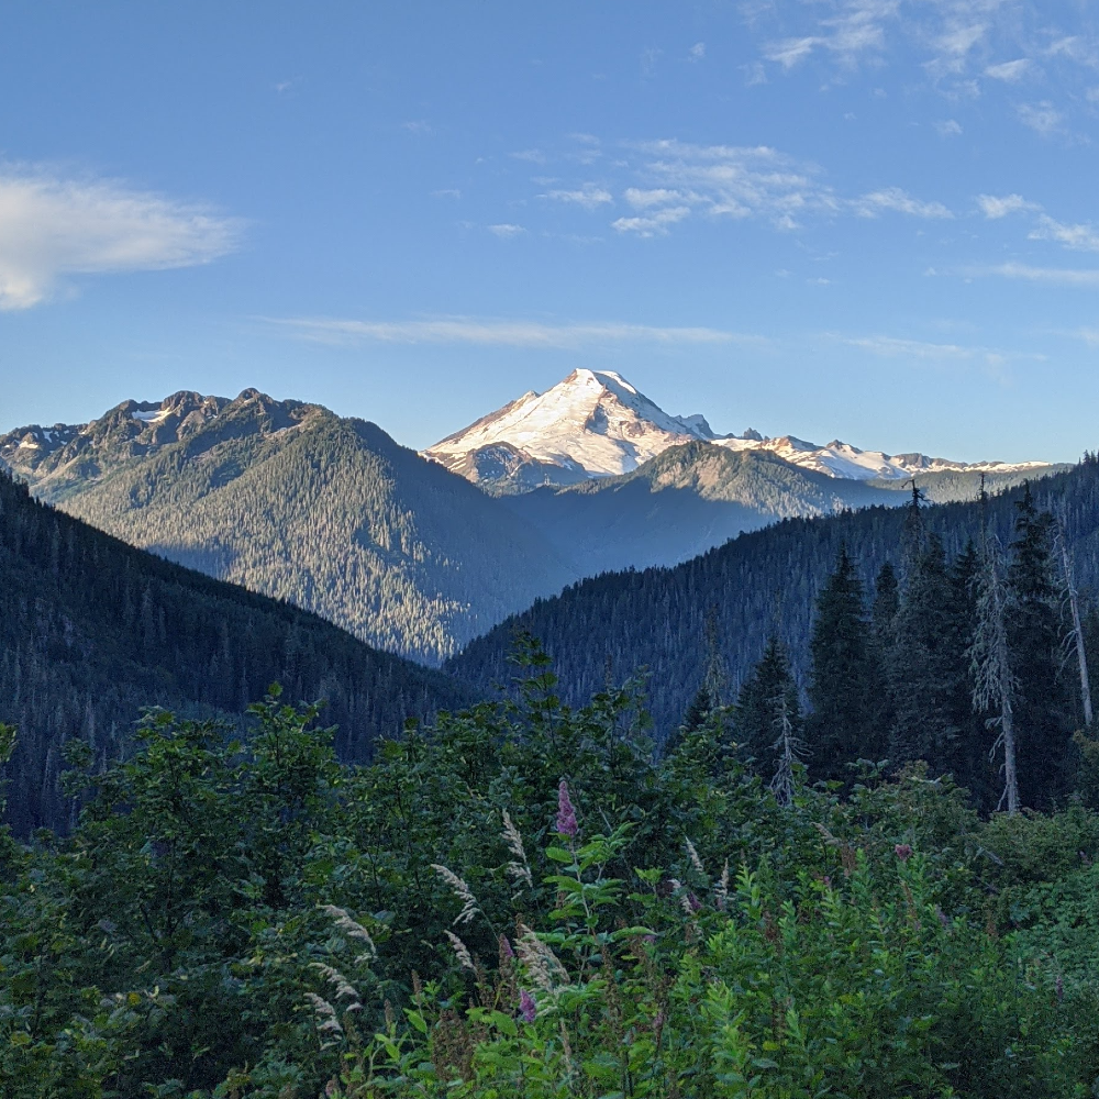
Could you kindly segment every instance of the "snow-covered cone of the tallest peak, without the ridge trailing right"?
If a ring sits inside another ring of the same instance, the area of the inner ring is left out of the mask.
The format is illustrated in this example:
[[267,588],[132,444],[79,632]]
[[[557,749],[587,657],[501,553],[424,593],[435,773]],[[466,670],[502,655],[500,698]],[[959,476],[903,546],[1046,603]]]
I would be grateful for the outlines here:
[[423,452],[497,491],[630,473],[680,443],[715,436],[701,415],[668,415],[612,370],[574,370]]

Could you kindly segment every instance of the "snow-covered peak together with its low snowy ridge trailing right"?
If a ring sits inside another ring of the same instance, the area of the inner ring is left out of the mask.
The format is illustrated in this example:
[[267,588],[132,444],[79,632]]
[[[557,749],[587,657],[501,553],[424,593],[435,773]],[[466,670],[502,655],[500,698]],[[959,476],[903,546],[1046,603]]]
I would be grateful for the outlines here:
[[544,393],[523,393],[423,451],[454,473],[500,495],[617,477],[671,446],[713,443],[765,451],[791,465],[842,480],[907,480],[918,474],[1019,474],[1046,462],[954,462],[925,454],[862,451],[833,440],[823,446],[757,431],[717,435],[702,415],[669,415],[620,374],[574,370]]

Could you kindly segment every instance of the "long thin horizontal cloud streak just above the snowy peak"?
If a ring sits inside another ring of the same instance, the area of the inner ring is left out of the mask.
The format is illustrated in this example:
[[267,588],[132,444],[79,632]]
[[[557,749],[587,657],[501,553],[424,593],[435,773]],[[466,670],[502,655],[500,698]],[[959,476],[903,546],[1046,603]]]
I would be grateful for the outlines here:
[[325,318],[260,318],[315,343],[469,344],[481,347],[575,348],[599,344],[722,344],[762,337],[707,328],[650,324],[550,324],[542,321],[446,317],[414,321],[357,321]]

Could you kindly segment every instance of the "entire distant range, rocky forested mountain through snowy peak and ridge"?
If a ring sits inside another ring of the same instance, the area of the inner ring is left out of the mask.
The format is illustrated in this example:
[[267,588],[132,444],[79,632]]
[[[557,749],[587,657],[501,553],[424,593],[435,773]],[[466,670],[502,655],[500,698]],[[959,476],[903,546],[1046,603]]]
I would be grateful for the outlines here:
[[972,499],[1058,467],[719,436],[574,370],[422,455],[318,404],[178,392],[0,436],[42,500],[435,664],[586,576],[675,565],[776,520]]

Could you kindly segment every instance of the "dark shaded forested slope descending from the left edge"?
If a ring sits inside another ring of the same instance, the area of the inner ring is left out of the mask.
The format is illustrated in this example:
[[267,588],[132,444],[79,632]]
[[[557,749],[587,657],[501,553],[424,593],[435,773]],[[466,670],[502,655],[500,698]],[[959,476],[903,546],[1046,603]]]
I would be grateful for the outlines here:
[[240,713],[279,680],[324,698],[342,756],[366,758],[408,717],[469,695],[441,673],[379,653],[306,611],[135,550],[0,473],[0,722],[19,729],[10,820],[64,824],[66,742],[97,764],[133,742],[141,708]]

